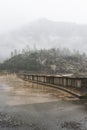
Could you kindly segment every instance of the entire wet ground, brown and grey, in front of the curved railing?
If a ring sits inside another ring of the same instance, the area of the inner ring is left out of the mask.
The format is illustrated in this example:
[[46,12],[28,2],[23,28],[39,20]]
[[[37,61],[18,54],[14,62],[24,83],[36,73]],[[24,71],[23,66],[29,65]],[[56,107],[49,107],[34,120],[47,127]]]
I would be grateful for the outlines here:
[[87,101],[15,75],[1,76],[0,130],[87,130]]

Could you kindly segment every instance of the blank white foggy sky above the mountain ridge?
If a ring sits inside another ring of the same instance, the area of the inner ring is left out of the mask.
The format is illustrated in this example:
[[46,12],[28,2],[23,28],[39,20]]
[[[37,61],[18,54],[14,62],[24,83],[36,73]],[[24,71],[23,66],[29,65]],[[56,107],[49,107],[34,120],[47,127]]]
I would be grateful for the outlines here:
[[0,0],[0,33],[38,18],[87,24],[87,0]]

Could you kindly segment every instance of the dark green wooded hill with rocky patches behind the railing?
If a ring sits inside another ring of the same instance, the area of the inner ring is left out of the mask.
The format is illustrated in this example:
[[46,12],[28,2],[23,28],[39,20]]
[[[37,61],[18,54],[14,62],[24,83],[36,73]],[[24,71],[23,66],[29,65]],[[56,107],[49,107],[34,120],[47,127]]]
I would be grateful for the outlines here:
[[86,72],[87,56],[66,48],[24,50],[1,63],[0,70],[43,74]]

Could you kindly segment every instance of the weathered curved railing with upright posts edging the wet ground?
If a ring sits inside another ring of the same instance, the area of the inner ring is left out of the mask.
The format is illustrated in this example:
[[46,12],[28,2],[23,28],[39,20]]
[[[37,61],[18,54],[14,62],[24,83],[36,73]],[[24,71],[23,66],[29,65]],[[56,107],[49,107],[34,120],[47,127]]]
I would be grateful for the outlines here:
[[76,97],[83,96],[83,94],[84,93],[86,94],[87,91],[86,77],[61,76],[61,75],[36,75],[25,73],[17,75],[18,77],[27,81],[32,81],[34,83],[39,83],[61,89]]

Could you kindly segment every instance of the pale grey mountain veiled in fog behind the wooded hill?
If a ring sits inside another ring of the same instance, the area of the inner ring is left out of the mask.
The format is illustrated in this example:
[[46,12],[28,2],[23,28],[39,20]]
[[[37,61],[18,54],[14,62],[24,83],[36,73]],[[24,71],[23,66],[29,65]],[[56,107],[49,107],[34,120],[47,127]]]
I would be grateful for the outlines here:
[[0,55],[7,57],[13,49],[67,47],[87,50],[87,25],[40,19],[0,36]]

